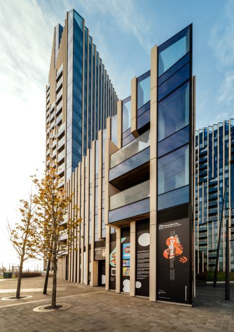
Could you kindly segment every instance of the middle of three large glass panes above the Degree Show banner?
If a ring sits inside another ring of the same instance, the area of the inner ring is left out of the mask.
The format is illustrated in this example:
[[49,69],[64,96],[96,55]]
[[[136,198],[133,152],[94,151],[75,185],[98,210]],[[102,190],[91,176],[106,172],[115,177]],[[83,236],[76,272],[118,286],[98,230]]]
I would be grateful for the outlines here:
[[189,83],[158,104],[158,141],[189,123]]

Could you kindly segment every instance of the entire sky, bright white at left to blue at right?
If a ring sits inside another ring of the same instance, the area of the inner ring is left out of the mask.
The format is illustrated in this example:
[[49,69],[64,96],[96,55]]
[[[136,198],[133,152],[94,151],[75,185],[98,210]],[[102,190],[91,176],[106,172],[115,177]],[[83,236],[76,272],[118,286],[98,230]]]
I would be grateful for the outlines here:
[[[18,263],[6,222],[19,221],[45,160],[45,89],[54,26],[85,18],[119,98],[150,69],[150,50],[193,23],[196,127],[234,117],[234,0],[0,0],[0,264]],[[38,262],[28,262],[33,268]],[[41,264],[42,262],[39,262]],[[40,265],[39,265],[40,269]]]

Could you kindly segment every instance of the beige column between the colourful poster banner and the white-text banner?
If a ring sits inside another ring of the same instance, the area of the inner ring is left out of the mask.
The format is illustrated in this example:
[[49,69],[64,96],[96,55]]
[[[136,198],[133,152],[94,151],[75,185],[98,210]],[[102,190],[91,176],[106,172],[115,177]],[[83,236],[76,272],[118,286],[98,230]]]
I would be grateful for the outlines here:
[[136,284],[136,221],[130,222],[130,296],[135,296]]

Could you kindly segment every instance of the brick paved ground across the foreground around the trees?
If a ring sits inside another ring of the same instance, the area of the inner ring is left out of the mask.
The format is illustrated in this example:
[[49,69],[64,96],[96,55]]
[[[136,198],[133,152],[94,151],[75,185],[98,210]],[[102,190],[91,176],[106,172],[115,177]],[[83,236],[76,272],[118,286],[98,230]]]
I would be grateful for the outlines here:
[[[22,287],[39,288],[43,280],[24,279]],[[0,289],[12,285],[2,282]],[[70,303],[70,309],[36,313],[33,308],[50,303],[50,297],[31,292],[28,295],[33,294],[33,298],[24,302],[0,301],[0,331],[234,331],[234,285],[232,300],[226,302],[224,285],[214,289],[199,284],[193,308],[153,303],[68,281],[59,280],[58,287],[66,288],[58,292],[58,298],[63,296],[58,303]]]

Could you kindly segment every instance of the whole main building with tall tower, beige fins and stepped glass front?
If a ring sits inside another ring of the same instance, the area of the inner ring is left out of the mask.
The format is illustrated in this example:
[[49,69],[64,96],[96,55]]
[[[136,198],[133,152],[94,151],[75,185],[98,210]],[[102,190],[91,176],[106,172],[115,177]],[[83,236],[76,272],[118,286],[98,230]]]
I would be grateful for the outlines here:
[[55,29],[49,83],[47,156],[63,158],[64,186],[82,218],[79,250],[58,258],[58,277],[191,305],[192,25],[152,48],[149,71],[117,101],[83,18],[71,10]]

